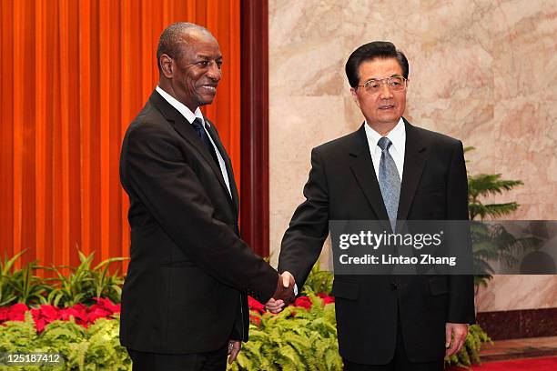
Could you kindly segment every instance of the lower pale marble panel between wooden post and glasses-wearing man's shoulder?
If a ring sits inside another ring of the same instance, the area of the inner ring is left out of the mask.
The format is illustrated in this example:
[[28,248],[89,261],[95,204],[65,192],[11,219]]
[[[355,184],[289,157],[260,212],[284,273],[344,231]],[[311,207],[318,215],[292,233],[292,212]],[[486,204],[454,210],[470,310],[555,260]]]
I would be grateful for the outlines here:
[[271,262],[276,264],[282,235],[303,201],[311,148],[351,130],[336,96],[271,96],[269,107],[269,205]]

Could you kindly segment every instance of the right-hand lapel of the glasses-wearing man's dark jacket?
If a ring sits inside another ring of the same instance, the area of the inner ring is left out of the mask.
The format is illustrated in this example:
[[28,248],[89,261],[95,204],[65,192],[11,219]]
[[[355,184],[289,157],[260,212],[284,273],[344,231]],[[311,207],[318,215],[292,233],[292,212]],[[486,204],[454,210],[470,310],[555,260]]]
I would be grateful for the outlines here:
[[410,212],[410,206],[420,183],[421,173],[426,163],[429,151],[424,145],[418,130],[404,119],[406,128],[406,145],[404,149],[404,170],[400,184],[400,200],[397,219],[405,220]]

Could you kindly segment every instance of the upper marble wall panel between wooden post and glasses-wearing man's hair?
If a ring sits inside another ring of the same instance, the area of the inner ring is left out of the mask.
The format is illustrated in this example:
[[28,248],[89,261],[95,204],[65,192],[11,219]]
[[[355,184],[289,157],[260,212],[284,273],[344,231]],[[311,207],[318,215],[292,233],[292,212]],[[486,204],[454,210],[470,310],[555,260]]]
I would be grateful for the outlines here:
[[341,11],[338,2],[269,2],[271,96],[340,94],[346,54],[338,37]]

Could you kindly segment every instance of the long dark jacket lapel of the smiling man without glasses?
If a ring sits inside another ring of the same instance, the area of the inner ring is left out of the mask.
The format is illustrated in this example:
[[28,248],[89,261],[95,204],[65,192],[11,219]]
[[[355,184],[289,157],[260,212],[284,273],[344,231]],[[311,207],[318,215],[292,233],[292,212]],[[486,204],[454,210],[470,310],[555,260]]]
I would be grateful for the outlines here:
[[[205,159],[207,165],[211,169],[213,169],[215,176],[217,176],[218,182],[224,188],[223,191],[226,192],[227,198],[230,199],[230,196],[228,195],[228,188],[224,182],[224,179],[222,178],[220,167],[218,167],[213,157],[209,154],[207,147],[203,144],[203,142],[201,142],[201,139],[199,138],[199,135],[197,135],[196,130],[189,122],[187,122],[186,117],[180,114],[177,109],[170,105],[165,100],[165,98],[157,93],[157,91],[154,91],[153,94],[151,94],[151,96],[149,97],[149,101],[152,105],[157,107],[159,112],[163,116],[165,116],[168,122],[171,122],[173,124],[174,129],[177,131],[177,133],[184,139],[186,139],[187,143],[193,145],[196,148],[197,152]],[[217,142],[218,141],[216,141],[215,143]],[[220,154],[223,155],[223,151],[220,149],[219,151]],[[232,202],[230,202],[230,206],[234,206],[232,205]],[[236,208],[236,210],[238,210],[238,207]]]

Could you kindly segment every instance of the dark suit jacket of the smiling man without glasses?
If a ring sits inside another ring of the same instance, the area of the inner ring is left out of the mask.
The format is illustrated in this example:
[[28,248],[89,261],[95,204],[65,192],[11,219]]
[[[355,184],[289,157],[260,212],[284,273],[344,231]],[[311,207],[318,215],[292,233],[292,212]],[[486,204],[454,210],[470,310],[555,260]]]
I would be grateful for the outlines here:
[[130,263],[120,340],[128,348],[201,353],[230,336],[248,340],[248,302],[266,302],[278,274],[238,237],[238,191],[215,125],[232,192],[186,118],[156,91],[129,125],[120,177],[130,207]]

